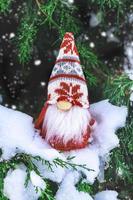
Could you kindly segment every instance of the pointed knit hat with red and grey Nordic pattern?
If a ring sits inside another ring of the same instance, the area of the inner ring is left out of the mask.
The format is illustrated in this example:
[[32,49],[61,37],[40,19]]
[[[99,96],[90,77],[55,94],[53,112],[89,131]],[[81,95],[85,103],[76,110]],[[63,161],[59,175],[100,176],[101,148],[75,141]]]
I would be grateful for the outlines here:
[[68,101],[72,105],[89,107],[88,89],[74,36],[67,32],[48,84],[48,104]]

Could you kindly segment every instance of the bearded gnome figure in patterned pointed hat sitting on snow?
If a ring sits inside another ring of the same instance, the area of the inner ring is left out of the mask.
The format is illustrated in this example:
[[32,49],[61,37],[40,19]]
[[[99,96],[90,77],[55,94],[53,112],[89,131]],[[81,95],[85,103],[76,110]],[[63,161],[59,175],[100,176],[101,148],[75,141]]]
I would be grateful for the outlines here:
[[74,36],[67,32],[50,76],[47,101],[35,128],[53,148],[70,151],[88,145],[94,124]]

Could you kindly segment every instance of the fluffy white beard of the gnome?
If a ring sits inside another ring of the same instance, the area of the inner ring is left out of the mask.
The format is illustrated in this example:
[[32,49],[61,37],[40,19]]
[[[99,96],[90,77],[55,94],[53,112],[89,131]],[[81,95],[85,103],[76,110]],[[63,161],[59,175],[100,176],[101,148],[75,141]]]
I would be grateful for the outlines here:
[[61,111],[56,105],[49,105],[43,121],[46,140],[56,136],[66,144],[71,139],[80,141],[86,132],[91,115],[88,109],[73,106],[69,111]]

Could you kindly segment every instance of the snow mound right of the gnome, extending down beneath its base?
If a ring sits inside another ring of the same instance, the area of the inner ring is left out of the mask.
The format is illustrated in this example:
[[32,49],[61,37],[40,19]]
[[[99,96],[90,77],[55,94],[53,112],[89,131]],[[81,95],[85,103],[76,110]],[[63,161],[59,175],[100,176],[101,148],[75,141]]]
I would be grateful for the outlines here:
[[[78,169],[79,173],[86,176],[86,181],[93,184],[99,173],[104,177],[104,164],[108,154],[119,144],[115,132],[125,125],[127,108],[114,106],[108,100],[103,100],[92,104],[90,112],[97,121],[92,132],[91,144],[84,149],[70,151],[67,155],[74,157],[73,163],[86,165],[88,169],[93,170]],[[101,166],[101,162],[104,162],[103,166]]]

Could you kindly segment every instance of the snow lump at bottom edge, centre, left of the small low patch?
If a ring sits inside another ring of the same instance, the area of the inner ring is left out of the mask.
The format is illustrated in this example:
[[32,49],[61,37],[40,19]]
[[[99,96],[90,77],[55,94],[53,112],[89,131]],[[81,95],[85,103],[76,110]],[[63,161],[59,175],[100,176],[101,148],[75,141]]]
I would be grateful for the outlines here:
[[56,200],[93,200],[89,194],[76,189],[78,179],[77,173],[68,173],[56,193]]

